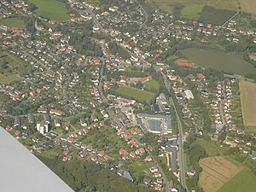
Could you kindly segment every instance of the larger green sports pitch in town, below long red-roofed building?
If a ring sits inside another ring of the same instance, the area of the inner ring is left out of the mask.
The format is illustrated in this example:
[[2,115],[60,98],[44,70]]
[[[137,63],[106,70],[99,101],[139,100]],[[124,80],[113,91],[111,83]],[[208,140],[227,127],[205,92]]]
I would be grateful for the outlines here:
[[147,102],[148,104],[150,104],[154,98],[154,93],[132,87],[120,86],[117,90],[115,90],[115,92],[119,96],[124,96],[128,99],[134,99],[137,102]]

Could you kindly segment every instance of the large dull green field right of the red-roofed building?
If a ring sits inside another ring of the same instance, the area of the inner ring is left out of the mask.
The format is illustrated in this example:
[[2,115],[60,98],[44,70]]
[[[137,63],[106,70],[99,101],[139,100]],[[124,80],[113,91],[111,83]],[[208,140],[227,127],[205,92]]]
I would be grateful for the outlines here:
[[224,73],[239,75],[256,74],[256,68],[244,61],[242,55],[195,48],[183,49],[181,53],[199,67],[214,68]]

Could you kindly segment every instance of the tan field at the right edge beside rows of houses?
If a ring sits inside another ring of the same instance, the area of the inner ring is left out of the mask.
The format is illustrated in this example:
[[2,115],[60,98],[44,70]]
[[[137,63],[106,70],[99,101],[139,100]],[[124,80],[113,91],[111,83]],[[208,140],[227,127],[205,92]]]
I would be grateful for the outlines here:
[[247,81],[240,81],[241,112],[245,126],[256,125],[256,84]]

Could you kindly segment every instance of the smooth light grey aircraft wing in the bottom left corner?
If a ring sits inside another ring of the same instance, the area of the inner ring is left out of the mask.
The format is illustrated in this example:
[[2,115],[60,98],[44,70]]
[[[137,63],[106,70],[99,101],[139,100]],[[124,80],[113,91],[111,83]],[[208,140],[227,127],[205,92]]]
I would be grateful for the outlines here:
[[73,192],[3,127],[0,127],[0,153],[0,191]]

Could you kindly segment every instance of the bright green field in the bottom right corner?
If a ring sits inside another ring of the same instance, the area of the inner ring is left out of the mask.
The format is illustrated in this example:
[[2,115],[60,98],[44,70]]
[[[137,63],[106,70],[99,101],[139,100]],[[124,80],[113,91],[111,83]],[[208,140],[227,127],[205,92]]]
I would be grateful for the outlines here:
[[256,176],[249,169],[244,168],[241,172],[224,184],[218,192],[255,192]]

